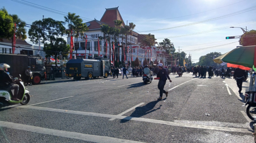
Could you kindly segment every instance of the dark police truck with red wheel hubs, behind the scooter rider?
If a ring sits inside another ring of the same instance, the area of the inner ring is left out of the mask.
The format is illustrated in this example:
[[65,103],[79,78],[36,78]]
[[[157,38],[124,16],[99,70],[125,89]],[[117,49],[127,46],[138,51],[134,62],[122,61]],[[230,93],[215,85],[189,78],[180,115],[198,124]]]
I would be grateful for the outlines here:
[[44,79],[44,60],[40,55],[0,54],[0,63],[10,65],[8,72],[13,78],[21,75],[22,80],[27,81],[25,70],[30,66],[33,75],[32,83],[34,85],[39,84]]

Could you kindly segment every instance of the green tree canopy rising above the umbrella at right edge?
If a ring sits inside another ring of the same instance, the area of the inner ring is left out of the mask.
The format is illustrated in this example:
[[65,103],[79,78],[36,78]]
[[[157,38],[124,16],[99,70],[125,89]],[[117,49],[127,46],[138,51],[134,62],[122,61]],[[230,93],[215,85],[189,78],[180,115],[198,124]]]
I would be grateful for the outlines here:
[[246,35],[253,35],[256,34],[256,30],[251,30],[249,32],[246,32],[241,36],[239,39],[239,44],[242,46],[254,46],[256,45],[256,37],[245,37]]

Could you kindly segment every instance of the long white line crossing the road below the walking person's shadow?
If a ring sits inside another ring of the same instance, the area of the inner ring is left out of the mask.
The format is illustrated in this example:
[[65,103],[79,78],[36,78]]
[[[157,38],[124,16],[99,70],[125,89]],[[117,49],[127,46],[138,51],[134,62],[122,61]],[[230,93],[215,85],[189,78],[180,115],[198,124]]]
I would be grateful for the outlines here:
[[171,126],[177,126],[177,127],[201,128],[201,129],[206,129],[206,130],[219,130],[219,131],[241,132],[241,133],[252,133],[253,132],[253,130],[248,130],[248,129],[244,129],[244,128],[230,128],[230,127],[217,127],[217,126],[209,126],[209,125],[197,125],[197,124],[191,124],[191,123],[178,123],[178,122],[155,120],[155,119],[137,118],[137,117],[121,116],[121,115],[100,114],[100,113],[82,112],[82,111],[74,111],[74,110],[63,110],[63,109],[54,109],[54,108],[47,108],[47,107],[20,106],[19,108],[45,110],[45,111],[61,112],[61,113],[67,113],[67,114],[89,115],[89,116],[96,116],[96,117],[116,118],[116,119],[124,119],[124,120],[135,120],[135,121],[159,123],[159,124],[165,124],[165,125],[171,125]]

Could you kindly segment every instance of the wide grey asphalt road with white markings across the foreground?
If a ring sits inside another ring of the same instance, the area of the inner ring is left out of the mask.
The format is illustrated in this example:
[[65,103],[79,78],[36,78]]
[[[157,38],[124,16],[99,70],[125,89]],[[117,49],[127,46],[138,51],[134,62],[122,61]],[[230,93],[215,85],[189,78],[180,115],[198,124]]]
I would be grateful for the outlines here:
[[162,100],[158,81],[145,85],[141,77],[26,86],[27,105],[0,109],[0,143],[254,142],[236,81],[170,77]]

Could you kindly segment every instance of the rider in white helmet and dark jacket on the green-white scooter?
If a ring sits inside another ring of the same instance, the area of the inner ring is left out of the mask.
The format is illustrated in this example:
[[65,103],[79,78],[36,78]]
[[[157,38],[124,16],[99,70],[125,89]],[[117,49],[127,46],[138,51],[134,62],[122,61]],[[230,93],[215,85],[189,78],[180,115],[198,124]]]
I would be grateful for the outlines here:
[[0,87],[7,90],[13,90],[13,101],[20,101],[17,99],[19,86],[16,84],[12,84],[12,82],[22,81],[22,80],[13,80],[12,77],[7,73],[7,68],[10,68],[6,63],[0,64]]

